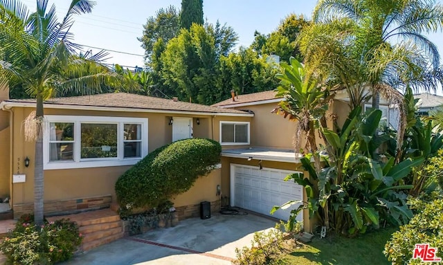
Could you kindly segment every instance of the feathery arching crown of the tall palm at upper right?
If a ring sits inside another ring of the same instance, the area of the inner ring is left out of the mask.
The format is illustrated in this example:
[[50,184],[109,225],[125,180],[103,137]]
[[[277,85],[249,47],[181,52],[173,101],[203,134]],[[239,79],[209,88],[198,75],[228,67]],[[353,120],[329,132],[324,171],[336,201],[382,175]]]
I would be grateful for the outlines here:
[[[320,0],[313,18],[317,23],[347,18],[358,25],[354,45],[372,87],[372,107],[378,108],[377,92],[388,87],[383,83],[410,83],[440,64],[437,47],[423,35],[443,28],[443,7],[432,0]],[[435,90],[430,80],[411,84]]]

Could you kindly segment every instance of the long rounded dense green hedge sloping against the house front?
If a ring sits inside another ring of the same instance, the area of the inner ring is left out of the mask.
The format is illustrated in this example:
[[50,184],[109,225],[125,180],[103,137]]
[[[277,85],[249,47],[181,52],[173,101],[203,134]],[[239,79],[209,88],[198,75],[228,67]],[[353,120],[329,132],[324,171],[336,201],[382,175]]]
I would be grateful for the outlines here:
[[122,214],[131,208],[155,208],[174,195],[189,190],[198,176],[220,161],[215,140],[179,140],[156,149],[125,172],[116,182]]

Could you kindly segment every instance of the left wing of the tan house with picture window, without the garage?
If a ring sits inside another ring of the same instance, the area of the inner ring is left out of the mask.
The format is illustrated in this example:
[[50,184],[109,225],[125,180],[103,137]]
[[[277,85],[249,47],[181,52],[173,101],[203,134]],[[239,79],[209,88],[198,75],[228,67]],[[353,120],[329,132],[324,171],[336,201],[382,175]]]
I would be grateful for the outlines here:
[[[25,141],[23,123],[35,100],[8,100],[7,90],[0,93],[0,197],[10,197],[17,218],[33,211],[35,143]],[[54,98],[44,108],[46,215],[109,207],[118,177],[149,152],[183,138],[219,140],[221,123],[249,126],[253,118],[235,109],[129,93]],[[179,218],[198,215],[201,201],[218,211],[221,184],[220,169],[199,178],[174,199]]]

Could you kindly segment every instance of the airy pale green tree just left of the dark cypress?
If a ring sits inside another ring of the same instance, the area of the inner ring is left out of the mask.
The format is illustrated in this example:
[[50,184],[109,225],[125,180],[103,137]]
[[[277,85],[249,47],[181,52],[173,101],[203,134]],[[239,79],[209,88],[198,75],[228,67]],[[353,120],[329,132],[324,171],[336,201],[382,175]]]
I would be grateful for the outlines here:
[[162,40],[163,44],[168,44],[170,39],[179,35],[179,31],[179,11],[174,6],[161,8],[155,16],[147,18],[146,24],[143,25],[143,36],[137,39],[145,49],[145,60],[148,64],[152,60],[153,53],[155,53],[154,46],[159,42],[159,39]]

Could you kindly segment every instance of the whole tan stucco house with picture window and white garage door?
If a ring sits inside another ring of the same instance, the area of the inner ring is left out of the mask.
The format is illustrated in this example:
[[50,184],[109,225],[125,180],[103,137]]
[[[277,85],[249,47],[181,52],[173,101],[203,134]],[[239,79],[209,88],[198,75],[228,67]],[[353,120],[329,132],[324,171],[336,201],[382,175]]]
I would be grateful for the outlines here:
[[[10,100],[7,95],[7,90],[0,91],[0,197],[10,197],[19,217],[33,210],[35,147],[24,140],[23,122],[35,100]],[[280,100],[273,91],[238,95],[213,106],[129,93],[48,100],[45,212],[108,207],[116,201],[116,180],[131,165],[158,147],[192,137],[219,141],[221,167],[174,199],[179,218],[198,216],[201,201],[210,201],[213,211],[224,200],[266,215],[273,205],[306,201],[300,185],[283,181],[302,168],[293,151],[296,122],[271,113]],[[338,93],[329,107],[332,117],[343,124],[349,111],[346,95]],[[287,219],[289,211],[278,210],[273,217]],[[311,230],[307,210],[298,219]]]

